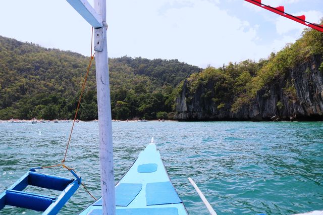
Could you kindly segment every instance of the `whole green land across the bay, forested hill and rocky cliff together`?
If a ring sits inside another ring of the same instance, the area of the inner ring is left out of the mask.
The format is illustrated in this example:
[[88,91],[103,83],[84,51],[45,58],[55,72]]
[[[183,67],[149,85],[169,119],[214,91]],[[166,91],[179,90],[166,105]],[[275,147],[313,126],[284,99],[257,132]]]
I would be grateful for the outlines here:
[[[202,69],[178,60],[109,60],[113,119],[318,120],[323,33],[306,29],[267,59]],[[0,36],[0,119],[72,119],[89,58]],[[78,119],[97,119],[95,65]]]

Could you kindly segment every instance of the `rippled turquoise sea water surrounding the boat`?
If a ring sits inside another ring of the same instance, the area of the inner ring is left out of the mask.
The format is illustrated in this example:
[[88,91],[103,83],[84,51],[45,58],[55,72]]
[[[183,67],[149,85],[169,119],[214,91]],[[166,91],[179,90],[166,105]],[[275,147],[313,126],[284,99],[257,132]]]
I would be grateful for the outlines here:
[[[0,123],[0,192],[31,167],[60,163],[71,126]],[[96,197],[97,130],[98,123],[76,124],[66,162]],[[322,122],[114,122],[116,181],[151,137],[190,214],[208,212],[188,177],[218,214],[323,210]],[[61,168],[42,172],[71,177]],[[91,202],[80,187],[61,214],[77,214]],[[22,213],[37,212],[12,207],[0,211]]]

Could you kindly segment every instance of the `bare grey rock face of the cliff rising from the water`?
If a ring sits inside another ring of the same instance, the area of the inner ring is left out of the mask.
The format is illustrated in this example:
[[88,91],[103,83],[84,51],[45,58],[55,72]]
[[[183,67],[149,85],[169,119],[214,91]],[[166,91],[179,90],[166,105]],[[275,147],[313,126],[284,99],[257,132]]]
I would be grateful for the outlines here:
[[[285,73],[284,77],[274,79],[261,88],[254,99],[242,105],[236,112],[231,111],[234,97],[227,101],[214,101],[205,96],[216,94],[215,83],[200,87],[194,94],[184,82],[181,93],[176,98],[175,119],[185,121],[234,120],[323,120],[323,62],[321,55],[312,56],[305,63],[297,65]],[[211,97],[211,96],[210,96]]]

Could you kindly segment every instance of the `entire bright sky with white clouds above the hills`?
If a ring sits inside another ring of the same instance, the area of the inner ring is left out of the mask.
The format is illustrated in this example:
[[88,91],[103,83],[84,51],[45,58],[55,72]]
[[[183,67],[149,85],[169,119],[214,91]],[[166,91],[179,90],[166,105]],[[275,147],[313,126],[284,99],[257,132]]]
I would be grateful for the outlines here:
[[[93,0],[88,1],[93,5]],[[322,0],[262,0],[323,18]],[[267,58],[306,27],[243,0],[107,0],[110,58],[178,59],[205,68]],[[0,35],[90,55],[91,26],[65,0],[2,1]]]

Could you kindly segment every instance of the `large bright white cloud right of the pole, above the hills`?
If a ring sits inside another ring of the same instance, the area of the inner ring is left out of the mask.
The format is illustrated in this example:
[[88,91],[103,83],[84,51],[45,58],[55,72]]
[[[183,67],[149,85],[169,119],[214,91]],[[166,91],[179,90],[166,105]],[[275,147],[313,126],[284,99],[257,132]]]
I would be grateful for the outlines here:
[[202,67],[256,57],[249,51],[257,49],[257,27],[213,2],[190,1],[190,7],[169,8],[159,16],[155,12],[163,4],[141,1],[149,10],[136,7],[138,11],[132,10],[137,3],[129,3],[122,14],[111,14],[117,21],[110,25],[111,56],[179,59]]

